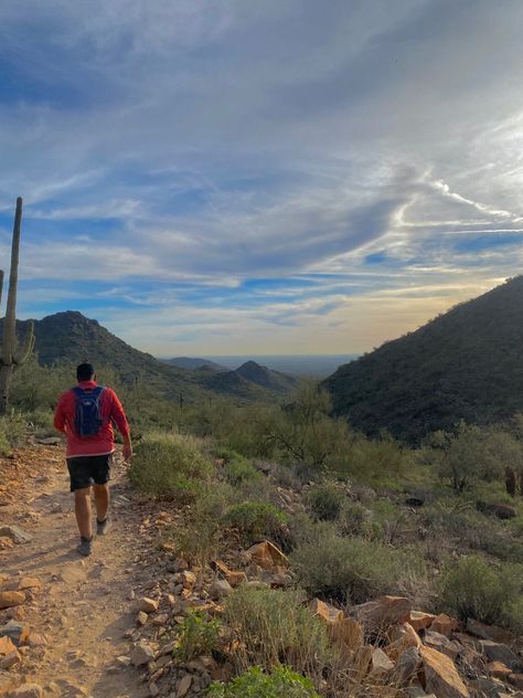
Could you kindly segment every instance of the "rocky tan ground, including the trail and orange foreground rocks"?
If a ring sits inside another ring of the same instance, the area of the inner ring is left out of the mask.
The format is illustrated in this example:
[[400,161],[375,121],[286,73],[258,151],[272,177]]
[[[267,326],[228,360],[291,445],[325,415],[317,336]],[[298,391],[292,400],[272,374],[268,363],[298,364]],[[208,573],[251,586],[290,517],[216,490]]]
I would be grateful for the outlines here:
[[[241,583],[291,583],[285,556],[267,541],[247,551],[232,546],[205,569],[177,558],[161,531],[180,526],[182,515],[140,501],[121,463],[114,528],[88,559],[75,552],[61,447],[31,446],[0,461],[0,696],[203,695],[232,665],[226,653],[220,662],[174,662],[177,627],[189,611],[220,616],[223,597]],[[506,631],[415,611],[403,597],[345,612],[316,599],[310,607],[354,668],[346,696],[384,696],[378,687],[389,685],[388,695],[405,698],[523,698],[523,642]]]

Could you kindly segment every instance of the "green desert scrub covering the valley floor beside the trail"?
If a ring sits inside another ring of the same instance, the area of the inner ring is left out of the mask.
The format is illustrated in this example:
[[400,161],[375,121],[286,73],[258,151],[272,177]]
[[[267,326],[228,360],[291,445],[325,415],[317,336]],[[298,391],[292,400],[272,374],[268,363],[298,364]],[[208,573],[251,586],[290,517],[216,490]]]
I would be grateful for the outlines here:
[[[32,359],[18,371],[0,421],[4,453],[28,432],[53,433],[52,405],[72,369]],[[196,611],[179,625],[175,662],[214,654],[233,667],[211,696],[365,695],[364,658],[340,653],[311,599],[350,610],[393,594],[425,612],[522,632],[523,499],[505,488],[506,467],[521,477],[521,415],[497,427],[461,422],[412,447],[332,417],[328,394],[311,382],[281,404],[181,406],[110,368],[99,374],[132,423],[138,496],[179,514],[160,549],[202,580],[216,560],[242,569],[243,551],[259,541],[287,556],[276,578],[263,572],[260,588],[227,595],[220,618]],[[391,680],[373,676],[372,695],[399,695]]]

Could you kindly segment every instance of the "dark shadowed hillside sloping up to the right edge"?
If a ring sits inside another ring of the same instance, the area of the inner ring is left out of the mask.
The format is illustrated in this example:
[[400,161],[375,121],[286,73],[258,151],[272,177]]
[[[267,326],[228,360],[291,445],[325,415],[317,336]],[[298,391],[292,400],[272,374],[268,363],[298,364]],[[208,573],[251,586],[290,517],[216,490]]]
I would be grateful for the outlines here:
[[323,383],[334,411],[376,434],[416,442],[459,420],[489,424],[523,410],[523,276],[384,343]]

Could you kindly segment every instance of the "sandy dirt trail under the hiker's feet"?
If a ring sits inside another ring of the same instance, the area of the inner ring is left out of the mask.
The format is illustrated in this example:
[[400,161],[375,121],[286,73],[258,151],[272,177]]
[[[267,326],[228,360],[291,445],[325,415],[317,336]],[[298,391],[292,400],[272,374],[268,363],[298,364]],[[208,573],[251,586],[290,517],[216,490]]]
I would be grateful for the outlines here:
[[[47,641],[31,647],[19,674],[44,688],[45,696],[141,698],[147,696],[140,674],[115,668],[128,655],[125,633],[134,627],[132,590],[143,581],[139,563],[140,514],[132,505],[125,467],[117,459],[111,483],[113,528],[95,540],[89,558],[75,547],[77,532],[73,496],[60,447],[31,448],[30,477],[8,506],[0,507],[0,525],[18,525],[32,541],[0,552],[0,588],[21,577],[38,578],[20,613],[31,634]],[[26,456],[25,456],[26,461]],[[0,611],[0,620],[7,612]]]

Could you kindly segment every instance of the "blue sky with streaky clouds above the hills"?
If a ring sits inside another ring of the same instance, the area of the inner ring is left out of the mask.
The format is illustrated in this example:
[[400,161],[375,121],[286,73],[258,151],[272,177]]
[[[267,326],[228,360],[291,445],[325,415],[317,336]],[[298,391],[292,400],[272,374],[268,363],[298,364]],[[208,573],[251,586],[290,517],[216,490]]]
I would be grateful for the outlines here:
[[0,3],[20,317],[371,350],[521,273],[520,0]]

